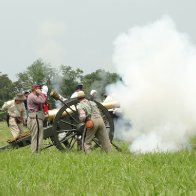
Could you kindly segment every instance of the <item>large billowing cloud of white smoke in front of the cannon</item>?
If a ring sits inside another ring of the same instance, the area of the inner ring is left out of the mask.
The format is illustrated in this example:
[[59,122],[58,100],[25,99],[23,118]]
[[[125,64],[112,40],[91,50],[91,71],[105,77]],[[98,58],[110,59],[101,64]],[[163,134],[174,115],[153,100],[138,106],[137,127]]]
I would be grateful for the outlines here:
[[196,47],[168,16],[114,42],[123,84],[108,87],[132,128],[116,129],[131,152],[178,151],[196,135]]

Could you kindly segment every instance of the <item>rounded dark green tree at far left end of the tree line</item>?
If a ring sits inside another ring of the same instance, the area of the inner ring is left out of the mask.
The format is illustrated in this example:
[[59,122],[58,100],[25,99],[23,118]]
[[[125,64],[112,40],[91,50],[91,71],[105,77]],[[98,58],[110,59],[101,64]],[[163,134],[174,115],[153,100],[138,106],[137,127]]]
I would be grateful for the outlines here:
[[0,72],[0,81],[0,106],[2,106],[5,101],[13,99],[16,92],[14,90],[14,85],[7,74],[2,74]]

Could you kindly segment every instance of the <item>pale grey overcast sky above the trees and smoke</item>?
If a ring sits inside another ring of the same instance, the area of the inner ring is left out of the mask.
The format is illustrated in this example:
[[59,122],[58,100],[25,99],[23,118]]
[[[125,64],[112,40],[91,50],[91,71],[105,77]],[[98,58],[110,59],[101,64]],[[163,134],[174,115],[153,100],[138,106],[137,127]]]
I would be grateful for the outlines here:
[[0,0],[0,72],[16,80],[41,58],[53,67],[114,72],[114,40],[170,16],[196,44],[196,0]]

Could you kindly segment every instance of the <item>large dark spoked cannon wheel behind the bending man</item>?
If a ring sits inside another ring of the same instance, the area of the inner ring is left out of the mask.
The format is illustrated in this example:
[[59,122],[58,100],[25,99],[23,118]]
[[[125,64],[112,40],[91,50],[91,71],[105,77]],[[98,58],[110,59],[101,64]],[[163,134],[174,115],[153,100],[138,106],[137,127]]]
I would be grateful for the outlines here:
[[[114,123],[108,110],[99,102],[96,102],[100,109],[101,115],[104,119],[106,129],[109,134],[110,141],[113,140],[114,136]],[[63,102],[62,108],[58,111],[55,116],[52,128],[51,140],[59,150],[71,149],[74,144],[78,144],[78,150],[82,141],[82,131],[84,126],[81,125],[78,118],[78,111],[76,105],[78,100],[70,99]],[[95,143],[97,143],[95,141]]]

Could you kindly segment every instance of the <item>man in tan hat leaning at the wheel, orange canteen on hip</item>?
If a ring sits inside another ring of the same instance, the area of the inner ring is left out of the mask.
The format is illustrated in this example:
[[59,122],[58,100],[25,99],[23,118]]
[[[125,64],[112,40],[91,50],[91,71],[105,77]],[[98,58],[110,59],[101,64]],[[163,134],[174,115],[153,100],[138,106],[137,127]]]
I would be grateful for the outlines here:
[[91,142],[96,137],[103,150],[110,152],[111,143],[109,135],[96,103],[85,99],[84,91],[78,92],[77,99],[79,100],[79,104],[77,105],[79,119],[86,125],[83,133],[84,151],[86,153],[90,152]]

